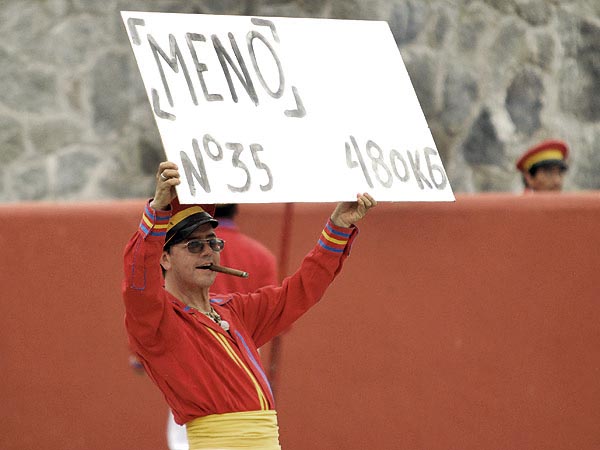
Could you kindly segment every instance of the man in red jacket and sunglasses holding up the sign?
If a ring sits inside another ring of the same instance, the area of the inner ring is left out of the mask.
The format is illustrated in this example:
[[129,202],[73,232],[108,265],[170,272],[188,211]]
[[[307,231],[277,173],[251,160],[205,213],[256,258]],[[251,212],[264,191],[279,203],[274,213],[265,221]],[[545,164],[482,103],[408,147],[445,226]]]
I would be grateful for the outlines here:
[[377,202],[362,194],[339,203],[317,245],[281,286],[213,296],[215,270],[227,272],[218,265],[225,243],[209,207],[179,205],[179,184],[178,167],[161,163],[154,198],[125,249],[131,348],[175,421],[186,424],[191,450],[280,449],[257,348],[319,301],[349,254],[355,223]]

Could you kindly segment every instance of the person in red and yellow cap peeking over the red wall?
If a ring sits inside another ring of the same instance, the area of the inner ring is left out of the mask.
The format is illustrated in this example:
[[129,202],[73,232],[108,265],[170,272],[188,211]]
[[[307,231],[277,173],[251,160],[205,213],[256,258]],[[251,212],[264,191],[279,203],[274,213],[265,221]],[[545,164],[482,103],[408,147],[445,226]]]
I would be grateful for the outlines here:
[[548,140],[528,149],[517,161],[526,192],[562,191],[568,169],[569,148],[559,140]]

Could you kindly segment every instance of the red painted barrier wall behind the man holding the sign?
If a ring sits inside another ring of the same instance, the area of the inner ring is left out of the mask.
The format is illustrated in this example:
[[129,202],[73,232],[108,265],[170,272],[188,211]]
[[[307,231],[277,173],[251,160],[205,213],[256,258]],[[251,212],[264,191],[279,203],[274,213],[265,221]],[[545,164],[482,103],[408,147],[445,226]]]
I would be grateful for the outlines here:
[[[121,252],[143,201],[0,206],[0,448],[166,449],[127,364]],[[290,268],[333,205],[295,205]],[[276,254],[283,205],[240,224]],[[284,450],[600,448],[600,195],[382,204],[282,339]]]

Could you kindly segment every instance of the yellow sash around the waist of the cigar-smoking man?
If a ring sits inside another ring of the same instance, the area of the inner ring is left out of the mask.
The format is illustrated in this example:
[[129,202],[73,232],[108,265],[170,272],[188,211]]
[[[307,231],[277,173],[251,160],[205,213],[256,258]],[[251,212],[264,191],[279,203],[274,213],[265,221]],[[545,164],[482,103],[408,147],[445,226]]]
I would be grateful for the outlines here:
[[281,450],[273,410],[212,414],[185,426],[190,450]]

